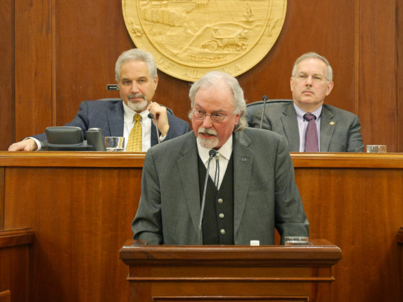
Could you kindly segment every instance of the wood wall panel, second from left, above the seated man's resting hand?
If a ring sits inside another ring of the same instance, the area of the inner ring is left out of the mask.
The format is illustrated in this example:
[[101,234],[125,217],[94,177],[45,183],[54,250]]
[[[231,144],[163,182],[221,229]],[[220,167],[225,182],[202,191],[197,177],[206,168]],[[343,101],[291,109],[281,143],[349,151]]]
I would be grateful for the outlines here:
[[51,125],[51,0],[16,1],[16,141]]

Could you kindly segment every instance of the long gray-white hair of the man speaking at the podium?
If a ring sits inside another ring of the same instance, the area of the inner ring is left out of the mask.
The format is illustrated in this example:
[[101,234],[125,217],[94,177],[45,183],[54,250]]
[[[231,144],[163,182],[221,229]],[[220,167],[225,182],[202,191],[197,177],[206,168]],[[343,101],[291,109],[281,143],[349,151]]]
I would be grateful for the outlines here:
[[[231,89],[234,96],[234,114],[240,113],[238,124],[235,126],[234,131],[241,131],[248,126],[246,121],[246,101],[244,99],[243,90],[239,85],[238,81],[230,76],[228,73],[221,71],[211,71],[203,75],[198,81],[192,84],[189,90],[190,106],[193,108],[195,101],[195,95],[199,88],[201,87],[211,87],[218,86],[218,83],[224,81],[228,88]],[[192,120],[193,112],[189,112],[189,118]]]

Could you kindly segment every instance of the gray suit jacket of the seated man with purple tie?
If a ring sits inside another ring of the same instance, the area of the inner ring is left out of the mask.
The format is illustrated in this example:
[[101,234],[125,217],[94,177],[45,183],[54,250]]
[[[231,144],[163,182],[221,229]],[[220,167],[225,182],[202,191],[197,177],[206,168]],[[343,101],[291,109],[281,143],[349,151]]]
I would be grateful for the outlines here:
[[[259,128],[263,110],[258,110],[253,118],[253,127]],[[265,109],[262,129],[281,134],[288,142],[291,152],[300,151],[300,134],[297,113],[290,103],[269,104]],[[320,116],[321,152],[362,152],[359,118],[353,113],[323,104]]]

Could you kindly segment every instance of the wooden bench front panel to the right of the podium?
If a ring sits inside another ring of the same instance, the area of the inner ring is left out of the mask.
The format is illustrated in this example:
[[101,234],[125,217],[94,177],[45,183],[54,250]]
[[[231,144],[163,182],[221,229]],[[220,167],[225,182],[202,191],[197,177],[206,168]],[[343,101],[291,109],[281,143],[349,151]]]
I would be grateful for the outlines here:
[[343,251],[333,301],[397,301],[402,169],[296,168],[295,175],[310,236]]

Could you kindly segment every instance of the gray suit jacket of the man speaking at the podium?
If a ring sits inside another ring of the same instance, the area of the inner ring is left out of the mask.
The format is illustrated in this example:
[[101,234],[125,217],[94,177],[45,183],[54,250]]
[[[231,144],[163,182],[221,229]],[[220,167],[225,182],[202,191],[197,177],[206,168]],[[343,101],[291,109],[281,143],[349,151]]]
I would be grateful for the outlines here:
[[[134,239],[151,244],[198,244],[201,210],[194,133],[152,147],[146,155],[141,197],[132,223]],[[234,133],[234,242],[274,244],[308,235],[308,221],[282,136],[247,128]]]

